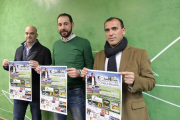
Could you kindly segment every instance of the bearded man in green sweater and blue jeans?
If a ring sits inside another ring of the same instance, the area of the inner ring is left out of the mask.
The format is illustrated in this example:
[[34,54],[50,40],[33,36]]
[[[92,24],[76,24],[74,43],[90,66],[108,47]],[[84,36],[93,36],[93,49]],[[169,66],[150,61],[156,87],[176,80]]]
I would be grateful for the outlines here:
[[[72,33],[74,23],[69,14],[60,14],[57,18],[58,30],[62,36],[53,45],[52,65],[67,66],[68,109],[73,120],[85,120],[85,83],[80,77],[83,67],[93,68],[93,56],[87,39]],[[55,115],[56,116],[56,115]],[[58,120],[66,120],[66,115],[57,114]]]

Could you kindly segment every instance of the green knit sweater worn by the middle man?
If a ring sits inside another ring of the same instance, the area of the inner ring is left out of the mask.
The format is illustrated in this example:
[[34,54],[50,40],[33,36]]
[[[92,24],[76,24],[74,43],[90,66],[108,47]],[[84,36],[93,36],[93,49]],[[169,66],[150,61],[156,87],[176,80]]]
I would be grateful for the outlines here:
[[[56,66],[83,69],[93,68],[92,49],[88,40],[76,36],[68,42],[58,40],[53,45],[53,63]],[[71,78],[68,76],[68,88],[84,87],[81,77]]]

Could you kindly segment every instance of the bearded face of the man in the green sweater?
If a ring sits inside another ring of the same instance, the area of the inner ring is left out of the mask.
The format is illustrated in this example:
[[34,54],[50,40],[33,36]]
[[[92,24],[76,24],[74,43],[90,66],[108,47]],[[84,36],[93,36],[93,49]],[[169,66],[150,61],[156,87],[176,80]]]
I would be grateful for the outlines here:
[[63,38],[68,38],[72,33],[72,29],[74,28],[74,23],[71,23],[67,16],[59,17],[57,22],[58,22],[58,30],[60,35]]

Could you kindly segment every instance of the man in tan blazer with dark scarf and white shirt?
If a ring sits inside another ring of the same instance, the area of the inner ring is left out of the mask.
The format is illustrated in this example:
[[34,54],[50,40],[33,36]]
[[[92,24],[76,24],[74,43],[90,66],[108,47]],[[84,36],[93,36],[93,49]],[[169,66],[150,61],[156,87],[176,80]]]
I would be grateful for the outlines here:
[[[106,43],[95,56],[93,69],[119,72],[122,84],[122,120],[149,120],[142,92],[155,86],[151,63],[146,50],[128,46],[123,37],[126,28],[119,18],[111,17],[104,23]],[[87,68],[81,76],[87,74]]]

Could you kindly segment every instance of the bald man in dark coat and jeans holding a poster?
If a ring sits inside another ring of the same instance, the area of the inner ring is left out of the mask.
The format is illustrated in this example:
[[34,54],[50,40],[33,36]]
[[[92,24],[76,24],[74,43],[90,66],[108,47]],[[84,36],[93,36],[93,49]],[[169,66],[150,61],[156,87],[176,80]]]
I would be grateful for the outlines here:
[[[16,50],[14,61],[29,61],[32,68],[32,102],[23,100],[14,100],[13,120],[24,120],[28,104],[31,107],[33,120],[41,120],[40,111],[40,76],[35,71],[38,65],[51,65],[51,52],[48,48],[42,46],[38,39],[37,29],[34,26],[28,26],[25,29],[25,41]],[[3,60],[3,67],[9,70],[9,61]]]

